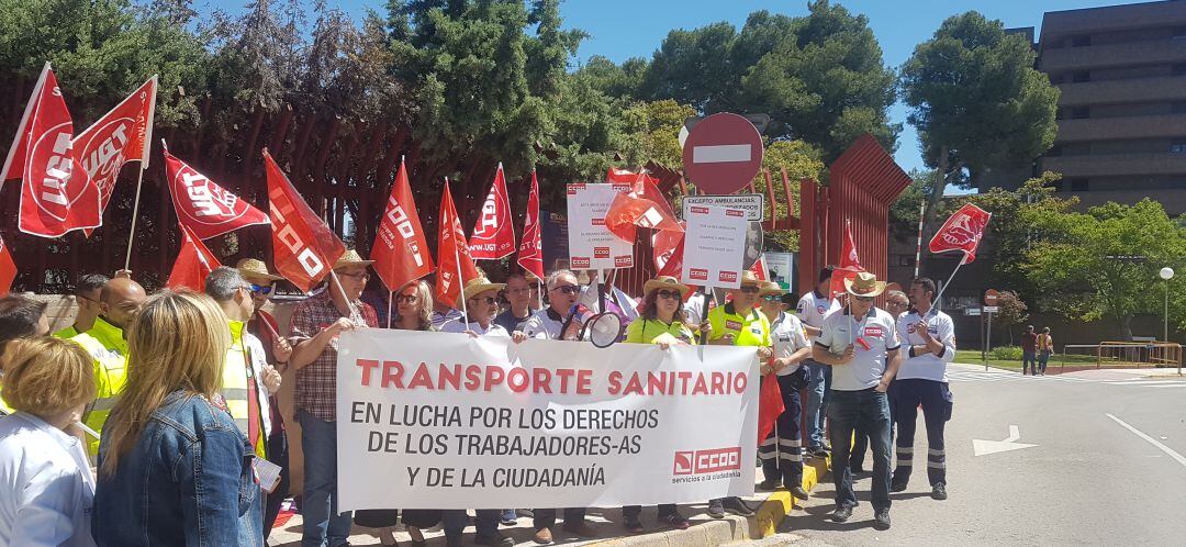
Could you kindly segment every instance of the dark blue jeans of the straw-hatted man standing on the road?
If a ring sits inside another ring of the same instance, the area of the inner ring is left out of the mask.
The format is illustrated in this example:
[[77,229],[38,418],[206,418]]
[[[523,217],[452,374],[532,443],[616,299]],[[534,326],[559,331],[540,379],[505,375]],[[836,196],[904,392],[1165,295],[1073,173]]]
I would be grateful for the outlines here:
[[856,507],[849,444],[853,431],[868,433],[873,446],[873,509],[890,509],[890,402],[874,388],[860,392],[831,392],[828,409],[831,433],[831,476],[836,507]]

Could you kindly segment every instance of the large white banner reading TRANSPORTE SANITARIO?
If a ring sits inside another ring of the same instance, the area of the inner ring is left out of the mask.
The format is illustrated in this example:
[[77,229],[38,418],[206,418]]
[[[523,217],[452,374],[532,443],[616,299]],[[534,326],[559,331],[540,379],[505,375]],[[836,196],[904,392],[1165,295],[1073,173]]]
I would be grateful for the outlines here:
[[[459,364],[454,364],[459,363]],[[753,348],[362,329],[338,345],[342,510],[753,494]]]

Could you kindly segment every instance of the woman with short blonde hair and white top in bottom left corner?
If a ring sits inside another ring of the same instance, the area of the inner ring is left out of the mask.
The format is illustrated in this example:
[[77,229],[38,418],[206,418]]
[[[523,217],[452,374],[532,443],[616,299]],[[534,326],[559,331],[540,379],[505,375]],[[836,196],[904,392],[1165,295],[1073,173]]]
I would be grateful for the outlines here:
[[95,399],[95,369],[81,345],[15,339],[2,363],[0,547],[94,546],[90,475],[78,420]]

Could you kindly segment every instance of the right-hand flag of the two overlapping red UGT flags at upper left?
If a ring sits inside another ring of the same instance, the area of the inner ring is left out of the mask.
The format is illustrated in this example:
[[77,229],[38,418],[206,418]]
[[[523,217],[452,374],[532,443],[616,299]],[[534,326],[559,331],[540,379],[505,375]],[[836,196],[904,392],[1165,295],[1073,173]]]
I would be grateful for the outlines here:
[[[111,201],[115,180],[120,177],[123,164],[140,161],[140,168],[148,168],[155,110],[157,76],[153,76],[111,112],[75,136],[74,147],[78,151],[82,167],[98,187],[100,215]],[[88,236],[90,231],[87,231]]]

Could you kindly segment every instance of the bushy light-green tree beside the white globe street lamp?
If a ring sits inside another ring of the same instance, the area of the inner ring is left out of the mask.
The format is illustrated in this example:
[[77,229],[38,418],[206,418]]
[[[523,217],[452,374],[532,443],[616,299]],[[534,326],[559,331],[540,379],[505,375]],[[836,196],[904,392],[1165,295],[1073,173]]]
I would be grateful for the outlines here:
[[[1086,214],[1027,210],[1022,218],[1045,230],[1025,250],[1022,265],[1042,307],[1080,320],[1110,320],[1126,341],[1133,338],[1133,316],[1161,312],[1165,281],[1158,271],[1186,256],[1186,229],[1149,198]],[[1180,292],[1186,282],[1175,278],[1169,287]],[[1174,316],[1181,318],[1179,306],[1180,300]]]

